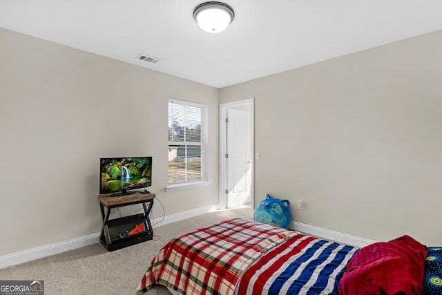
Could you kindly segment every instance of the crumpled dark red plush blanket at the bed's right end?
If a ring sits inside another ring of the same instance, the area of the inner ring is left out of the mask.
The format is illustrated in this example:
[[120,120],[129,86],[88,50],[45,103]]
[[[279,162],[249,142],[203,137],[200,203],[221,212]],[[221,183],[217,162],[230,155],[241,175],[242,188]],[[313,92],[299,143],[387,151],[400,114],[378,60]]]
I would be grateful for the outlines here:
[[425,246],[410,236],[364,247],[348,263],[339,294],[422,294],[426,255]]

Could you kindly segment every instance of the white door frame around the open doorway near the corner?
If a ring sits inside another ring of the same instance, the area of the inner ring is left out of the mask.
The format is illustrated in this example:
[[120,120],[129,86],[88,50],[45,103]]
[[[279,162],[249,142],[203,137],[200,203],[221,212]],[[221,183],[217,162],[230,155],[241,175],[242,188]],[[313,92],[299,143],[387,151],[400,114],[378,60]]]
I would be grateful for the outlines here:
[[228,102],[225,104],[220,104],[220,180],[219,180],[219,204],[220,209],[227,208],[227,194],[225,189],[227,187],[227,159],[225,157],[227,153],[227,110],[229,108],[238,108],[239,106],[248,106],[250,109],[250,149],[251,149],[251,211],[253,213],[253,208],[255,208],[255,99],[243,99],[236,102]]

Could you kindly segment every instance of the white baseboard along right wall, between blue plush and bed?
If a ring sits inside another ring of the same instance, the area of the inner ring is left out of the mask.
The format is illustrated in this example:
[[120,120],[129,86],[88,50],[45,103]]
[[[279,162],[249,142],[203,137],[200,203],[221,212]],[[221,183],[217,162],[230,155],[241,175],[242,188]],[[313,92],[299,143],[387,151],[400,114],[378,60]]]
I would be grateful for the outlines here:
[[367,245],[377,242],[376,240],[368,240],[358,236],[352,236],[340,233],[338,231],[331,231],[329,229],[323,229],[321,227],[314,227],[313,225],[306,225],[304,223],[292,221],[290,228],[296,231],[302,231],[305,234],[312,236],[318,236],[327,240],[334,240],[336,242],[342,242],[343,244],[352,245],[356,247],[365,247]]

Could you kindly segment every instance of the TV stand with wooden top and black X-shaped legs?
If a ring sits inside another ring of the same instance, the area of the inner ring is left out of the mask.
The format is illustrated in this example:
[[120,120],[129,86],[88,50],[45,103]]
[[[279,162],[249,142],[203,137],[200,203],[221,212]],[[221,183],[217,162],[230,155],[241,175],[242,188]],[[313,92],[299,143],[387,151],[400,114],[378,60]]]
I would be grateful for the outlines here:
[[[149,213],[153,206],[155,193],[133,193],[124,196],[98,195],[99,208],[102,211],[103,226],[99,241],[108,249],[114,251],[131,245],[152,240],[153,228]],[[114,208],[142,204],[143,213],[109,219]],[[144,229],[131,236],[125,235],[125,231],[131,231],[136,225],[144,224]]]

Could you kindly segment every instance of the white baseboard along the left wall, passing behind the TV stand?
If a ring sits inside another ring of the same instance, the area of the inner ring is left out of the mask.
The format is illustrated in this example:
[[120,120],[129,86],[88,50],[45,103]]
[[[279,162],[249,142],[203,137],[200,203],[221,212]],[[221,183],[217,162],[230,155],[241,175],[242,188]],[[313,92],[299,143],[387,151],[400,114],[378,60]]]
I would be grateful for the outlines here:
[[[198,216],[204,213],[208,213],[215,209],[217,209],[217,205],[175,213],[169,216],[165,216],[164,218],[155,218],[154,220],[152,220],[152,224],[155,226],[166,225],[171,222],[180,221],[186,218],[191,218],[193,216]],[[96,244],[97,242],[99,242],[99,233],[90,234],[88,236],[82,236],[79,238],[73,238],[72,240],[65,240],[63,242],[56,242],[54,244],[28,249],[24,251],[19,251],[12,254],[6,254],[4,256],[0,256],[0,268],[7,267],[10,265],[18,265],[20,263],[26,263],[31,260],[43,258],[54,254],[59,254],[62,252],[66,252],[72,249],[77,249],[80,247],[85,247],[88,245],[93,245]]]

